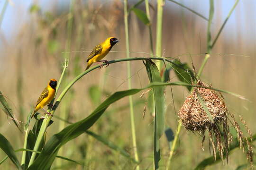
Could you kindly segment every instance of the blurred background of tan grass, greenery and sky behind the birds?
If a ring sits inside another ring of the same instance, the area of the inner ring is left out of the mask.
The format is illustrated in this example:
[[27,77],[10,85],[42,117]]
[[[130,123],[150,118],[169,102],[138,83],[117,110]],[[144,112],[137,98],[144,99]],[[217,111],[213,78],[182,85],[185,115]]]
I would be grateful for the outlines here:
[[[177,0],[205,17],[209,13],[207,0]],[[131,7],[137,1],[128,0]],[[156,1],[149,0],[155,49]],[[7,4],[6,4],[7,3]],[[235,0],[215,0],[212,36],[215,37]],[[144,3],[138,8],[145,11]],[[227,90],[245,96],[249,101],[224,94],[230,112],[246,120],[252,133],[256,132],[256,2],[240,1],[229,18],[213,48],[212,55],[202,73],[201,79],[217,89]],[[0,91],[8,97],[13,112],[24,122],[30,109],[49,79],[58,79],[63,69],[64,58],[69,57],[67,75],[61,89],[82,72],[91,49],[110,36],[119,39],[107,60],[126,58],[125,31],[122,0],[1,0],[0,1]],[[71,24],[68,24],[72,18]],[[206,31],[208,22],[185,8],[166,0],[163,17],[163,56],[187,62],[195,71],[201,66],[206,52]],[[129,15],[129,38],[131,57],[147,57],[150,52],[148,27],[134,13]],[[142,61],[132,61],[133,88],[149,84]],[[176,81],[170,72],[171,81]],[[87,117],[110,94],[128,89],[126,62],[111,64],[108,68],[94,70],[78,81],[64,97],[55,116],[76,122]],[[177,111],[188,95],[185,87],[166,88],[166,127],[175,131]],[[143,110],[146,97],[134,95],[135,124],[138,154],[141,169],[152,169],[153,159],[153,117]],[[174,100],[174,105],[172,100]],[[42,111],[43,113],[43,111]],[[47,137],[61,131],[68,123],[54,117],[54,123],[47,130]],[[238,118],[239,119],[239,118]],[[33,120],[35,121],[35,120]],[[133,155],[130,130],[128,98],[124,98],[108,108],[91,131],[105,136],[108,140]],[[0,115],[0,132],[6,136],[14,149],[21,148],[24,135],[20,134],[6,115]],[[15,134],[15,135],[14,135]],[[203,159],[209,157],[208,149],[201,150],[201,138],[182,128],[178,147],[174,153],[174,169],[193,169]],[[207,140],[206,140],[207,141]],[[162,161],[165,167],[169,144],[161,137]],[[208,142],[205,142],[205,148]],[[131,170],[134,164],[119,153],[112,151],[91,136],[81,135],[65,144],[58,155],[83,161],[90,170]],[[0,158],[5,154],[0,152]],[[236,150],[230,155],[229,164],[221,163],[209,170],[234,170],[246,163],[246,156]],[[2,167],[12,167],[10,161]],[[55,160],[53,169],[82,170],[81,165]]]

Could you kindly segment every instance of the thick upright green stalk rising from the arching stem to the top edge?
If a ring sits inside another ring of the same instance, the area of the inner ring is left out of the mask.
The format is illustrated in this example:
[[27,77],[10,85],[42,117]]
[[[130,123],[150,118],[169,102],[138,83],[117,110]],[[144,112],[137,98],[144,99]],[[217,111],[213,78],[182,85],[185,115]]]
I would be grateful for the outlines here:
[[[157,0],[157,21],[156,21],[156,45],[155,55],[162,57],[162,31],[163,31],[163,6],[164,0]],[[162,68],[162,62],[157,62],[156,66],[159,70]]]

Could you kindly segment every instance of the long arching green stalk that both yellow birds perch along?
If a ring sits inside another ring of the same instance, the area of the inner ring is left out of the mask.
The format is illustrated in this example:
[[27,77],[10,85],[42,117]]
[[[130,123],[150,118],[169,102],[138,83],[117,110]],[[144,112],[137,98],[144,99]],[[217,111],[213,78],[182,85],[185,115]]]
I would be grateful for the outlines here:
[[[135,57],[135,58],[125,58],[125,59],[115,59],[115,60],[111,60],[109,61],[109,64],[113,64],[113,63],[117,63],[117,62],[124,62],[124,61],[135,61],[135,60],[145,60],[147,58],[144,57]],[[170,62],[172,64],[175,64],[174,62],[168,60],[168,59],[164,59],[164,58],[158,58],[158,57],[149,57],[148,59],[157,59],[157,60],[165,60],[167,62]],[[102,63],[103,66],[106,65],[106,63]],[[57,107],[59,106],[60,102],[62,101],[64,95],[68,92],[68,90],[80,79],[82,78],[82,76],[86,75],[87,73],[91,72],[94,69],[100,68],[100,66],[94,66],[92,68],[89,68],[88,70],[83,71],[81,74],[79,74],[78,76],[76,76],[72,81],[70,81],[70,83],[64,88],[64,90],[62,91],[62,93],[59,95],[58,99],[56,100],[53,110],[50,111],[50,113],[53,115],[55,113],[55,110],[57,109]],[[65,69],[65,67],[64,67]],[[62,78],[62,77],[61,77]],[[57,90],[57,89],[56,89]],[[42,126],[40,128],[40,131],[38,133],[38,137],[37,137],[37,141],[34,147],[34,151],[38,150],[39,144],[46,132],[46,127],[48,126],[50,120],[51,120],[52,116],[48,116],[46,115],[46,118],[44,119]],[[29,161],[28,166],[32,165],[32,163],[35,161],[35,156],[36,153],[33,154],[31,156],[31,159]]]

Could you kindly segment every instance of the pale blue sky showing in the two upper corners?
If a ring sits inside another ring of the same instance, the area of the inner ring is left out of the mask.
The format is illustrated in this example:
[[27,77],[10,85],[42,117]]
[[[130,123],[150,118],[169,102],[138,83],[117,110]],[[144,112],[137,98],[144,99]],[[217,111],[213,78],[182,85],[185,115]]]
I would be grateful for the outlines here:
[[[28,8],[30,7],[33,0],[10,0],[11,3],[8,4],[2,26],[0,28],[1,34],[9,42],[18,33],[18,29],[29,21]],[[104,1],[104,0],[103,0]],[[128,0],[129,1],[129,0]],[[136,0],[134,0],[136,1]],[[155,0],[151,0],[155,2]],[[189,8],[201,13],[203,16],[208,17],[209,11],[209,0],[177,0],[183,3]],[[0,0],[0,10],[2,10],[5,0]],[[225,17],[228,15],[229,10],[232,8],[235,0],[215,0],[215,16],[213,23],[217,23],[216,18],[221,17],[223,22]],[[53,5],[53,3],[55,5]],[[39,0],[39,6],[43,11],[51,11],[52,8],[62,8],[69,4],[69,0]],[[191,12],[187,11],[174,4],[171,1],[166,0],[165,10],[167,9],[177,9],[183,10],[187,14],[193,15]],[[234,13],[229,18],[229,21],[224,28],[225,35],[232,35],[240,32],[244,38],[248,41],[254,41],[256,37],[256,1],[254,0],[240,0]],[[198,18],[200,19],[200,18]],[[219,29],[219,28],[217,28]],[[2,36],[1,35],[1,36]]]

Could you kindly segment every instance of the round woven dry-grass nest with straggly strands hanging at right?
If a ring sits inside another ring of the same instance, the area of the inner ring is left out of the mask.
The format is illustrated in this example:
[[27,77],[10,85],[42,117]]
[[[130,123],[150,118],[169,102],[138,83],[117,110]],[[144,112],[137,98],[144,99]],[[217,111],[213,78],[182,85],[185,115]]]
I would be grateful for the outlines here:
[[[228,124],[229,121],[237,131],[240,148],[242,148],[244,152],[245,148],[247,149],[247,159],[252,166],[252,146],[247,138],[243,136],[243,132],[234,116],[227,110],[221,93],[217,93],[210,89],[212,86],[201,81],[197,82],[197,86],[201,87],[195,87],[193,89],[192,93],[186,97],[186,100],[178,113],[183,126],[187,130],[199,133],[202,136],[202,150],[205,140],[205,131],[208,131],[209,144],[212,147],[215,160],[216,153],[219,152],[222,161],[224,154],[227,155],[226,158],[228,162],[229,157],[227,153],[229,152],[229,144],[232,142]],[[228,116],[231,117],[231,120]],[[247,133],[251,137],[251,132],[245,121],[241,117],[240,120],[245,125]]]

